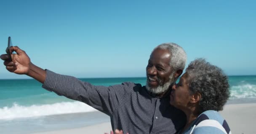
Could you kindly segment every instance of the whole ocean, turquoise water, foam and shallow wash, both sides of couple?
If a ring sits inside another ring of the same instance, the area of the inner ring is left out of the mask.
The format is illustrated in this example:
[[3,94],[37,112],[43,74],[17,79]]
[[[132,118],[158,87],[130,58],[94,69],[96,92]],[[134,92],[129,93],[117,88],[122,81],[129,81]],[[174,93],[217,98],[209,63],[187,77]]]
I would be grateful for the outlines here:
[[[145,85],[146,77],[86,78],[93,85],[131,81]],[[256,102],[256,76],[229,76],[229,103]],[[93,116],[96,115],[96,116]],[[0,133],[29,134],[88,126],[110,121],[96,109],[42,88],[33,79],[0,80]]]

